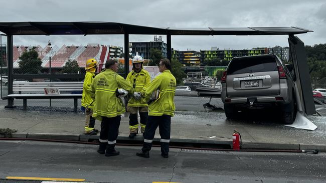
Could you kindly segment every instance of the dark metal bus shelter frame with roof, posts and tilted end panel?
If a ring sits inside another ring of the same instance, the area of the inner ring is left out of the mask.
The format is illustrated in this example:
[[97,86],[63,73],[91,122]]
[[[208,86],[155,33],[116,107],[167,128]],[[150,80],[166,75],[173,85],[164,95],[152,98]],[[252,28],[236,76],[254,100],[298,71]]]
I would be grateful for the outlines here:
[[[303,42],[294,34],[312,30],[300,27],[203,27],[172,28],[132,25],[118,22],[0,22],[0,31],[7,35],[8,47],[8,94],[13,93],[15,78],[36,78],[34,74],[13,74],[13,35],[89,35],[124,34],[124,52],[129,52],[129,34],[162,34],[167,36],[168,59],[171,60],[171,35],[288,35],[290,53],[295,63],[296,76],[300,81],[299,97],[306,114],[315,112]],[[125,76],[129,72],[129,54],[124,56]],[[38,74],[39,78],[64,78],[67,74]],[[69,75],[79,78],[79,75]],[[310,96],[311,95],[311,96]],[[6,107],[14,107],[14,99],[8,99]]]

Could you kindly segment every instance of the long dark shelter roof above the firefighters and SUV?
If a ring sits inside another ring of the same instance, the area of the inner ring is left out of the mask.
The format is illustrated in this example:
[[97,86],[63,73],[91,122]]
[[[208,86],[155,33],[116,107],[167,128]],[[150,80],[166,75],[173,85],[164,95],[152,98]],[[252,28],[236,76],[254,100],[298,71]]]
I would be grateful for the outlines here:
[[312,30],[288,27],[150,27],[117,22],[0,22],[0,31],[8,35],[87,35],[87,34],[171,34],[171,35],[289,35]]

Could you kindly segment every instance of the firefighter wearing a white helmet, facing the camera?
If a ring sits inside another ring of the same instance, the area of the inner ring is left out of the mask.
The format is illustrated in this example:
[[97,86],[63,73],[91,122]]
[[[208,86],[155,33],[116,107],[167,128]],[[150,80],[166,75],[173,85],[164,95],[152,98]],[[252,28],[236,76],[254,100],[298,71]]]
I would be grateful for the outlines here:
[[[146,85],[150,82],[150,75],[147,70],[142,68],[143,59],[136,55],[132,58],[132,71],[128,73],[127,80],[132,84],[134,92],[140,92],[146,89]],[[136,94],[137,95],[137,94]],[[135,97],[131,97],[128,101],[127,111],[129,112],[129,138],[133,139],[138,133],[138,117],[140,116],[140,130],[143,133],[148,116],[148,104],[140,103]]]

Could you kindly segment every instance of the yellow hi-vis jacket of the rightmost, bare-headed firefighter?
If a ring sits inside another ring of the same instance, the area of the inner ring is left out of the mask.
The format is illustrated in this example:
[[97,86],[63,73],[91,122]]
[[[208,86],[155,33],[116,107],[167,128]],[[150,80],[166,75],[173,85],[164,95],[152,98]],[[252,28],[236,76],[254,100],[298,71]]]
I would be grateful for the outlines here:
[[144,97],[142,97],[141,102],[148,101],[152,92],[157,88],[160,90],[160,97],[151,102],[148,106],[148,115],[175,115],[174,112],[176,110],[176,106],[174,103],[174,97],[176,93],[176,85],[176,78],[168,69],[157,75],[147,85],[146,90],[142,90],[141,95]]

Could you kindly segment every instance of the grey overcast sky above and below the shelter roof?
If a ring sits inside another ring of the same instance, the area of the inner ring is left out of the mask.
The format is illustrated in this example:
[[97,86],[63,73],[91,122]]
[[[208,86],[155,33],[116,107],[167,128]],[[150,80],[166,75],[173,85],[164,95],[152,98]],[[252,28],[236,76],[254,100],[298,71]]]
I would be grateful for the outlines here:
[[[298,26],[306,44],[326,43],[325,0],[0,0],[0,21],[108,21],[154,27]],[[15,45],[123,46],[123,35],[14,36]],[[130,35],[150,41],[153,35]],[[166,42],[166,36],[163,36]],[[200,50],[288,46],[287,36],[172,36],[172,47]]]

